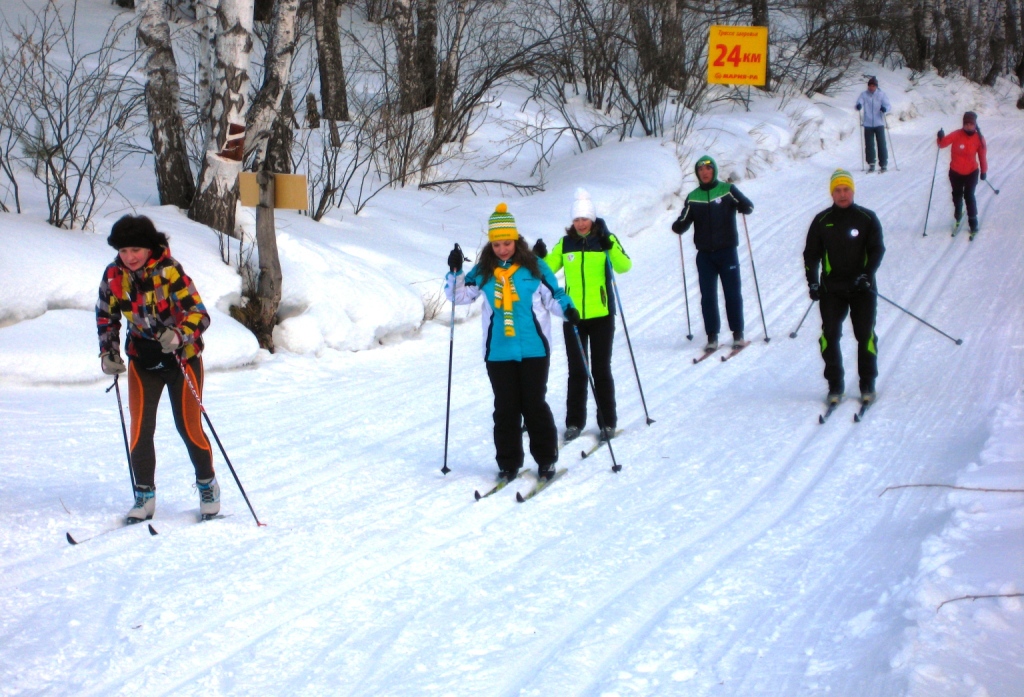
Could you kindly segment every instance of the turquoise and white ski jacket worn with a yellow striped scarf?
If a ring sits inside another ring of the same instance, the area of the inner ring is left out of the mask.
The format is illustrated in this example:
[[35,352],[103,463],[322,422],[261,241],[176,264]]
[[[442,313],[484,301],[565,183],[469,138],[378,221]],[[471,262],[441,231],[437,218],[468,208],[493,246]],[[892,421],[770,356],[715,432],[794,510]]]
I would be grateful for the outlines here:
[[[449,271],[445,276],[444,295],[450,302],[469,305],[481,295],[486,301],[480,313],[484,360],[522,360],[551,355],[551,315],[564,317],[565,310],[573,305],[565,291],[559,288],[551,267],[542,259],[537,263],[541,269],[540,278],[523,267],[512,274],[512,284],[519,297],[512,306],[513,337],[505,336],[501,313],[497,320],[495,318],[495,276],[481,280],[476,266],[469,273]],[[511,264],[503,262],[502,266],[508,268]]]

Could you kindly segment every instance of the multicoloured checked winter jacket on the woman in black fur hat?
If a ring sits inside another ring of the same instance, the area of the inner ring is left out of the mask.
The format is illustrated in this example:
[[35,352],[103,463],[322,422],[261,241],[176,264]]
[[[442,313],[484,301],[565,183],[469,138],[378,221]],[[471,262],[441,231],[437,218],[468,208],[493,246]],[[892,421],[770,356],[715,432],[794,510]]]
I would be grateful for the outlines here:
[[196,286],[166,248],[137,271],[128,270],[120,257],[103,271],[96,301],[100,355],[118,351],[122,316],[128,323],[128,355],[133,357],[138,357],[134,341],[157,341],[165,326],[181,335],[185,359],[198,356],[203,351],[201,335],[210,325]]

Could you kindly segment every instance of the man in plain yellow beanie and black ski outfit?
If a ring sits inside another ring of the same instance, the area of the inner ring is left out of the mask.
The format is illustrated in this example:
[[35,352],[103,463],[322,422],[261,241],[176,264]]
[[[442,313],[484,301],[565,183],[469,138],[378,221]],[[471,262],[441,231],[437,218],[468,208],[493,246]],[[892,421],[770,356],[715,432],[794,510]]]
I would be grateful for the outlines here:
[[828,191],[833,205],[814,216],[804,247],[808,290],[811,300],[817,300],[821,310],[821,357],[828,381],[826,401],[829,405],[838,404],[846,391],[839,340],[843,336],[843,320],[849,314],[857,339],[860,398],[868,404],[874,401],[874,379],[879,375],[874,274],[886,252],[882,223],[872,211],[853,203],[853,176],[846,170],[833,172]]

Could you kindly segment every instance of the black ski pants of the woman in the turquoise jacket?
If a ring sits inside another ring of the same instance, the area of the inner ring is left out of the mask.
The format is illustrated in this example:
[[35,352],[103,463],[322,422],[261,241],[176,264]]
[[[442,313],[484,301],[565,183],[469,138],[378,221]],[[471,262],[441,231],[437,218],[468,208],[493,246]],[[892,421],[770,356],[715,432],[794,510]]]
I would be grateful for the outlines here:
[[558,461],[558,431],[546,399],[550,365],[548,356],[487,361],[495,393],[495,460],[509,479],[522,467],[523,422],[539,470],[550,470]]

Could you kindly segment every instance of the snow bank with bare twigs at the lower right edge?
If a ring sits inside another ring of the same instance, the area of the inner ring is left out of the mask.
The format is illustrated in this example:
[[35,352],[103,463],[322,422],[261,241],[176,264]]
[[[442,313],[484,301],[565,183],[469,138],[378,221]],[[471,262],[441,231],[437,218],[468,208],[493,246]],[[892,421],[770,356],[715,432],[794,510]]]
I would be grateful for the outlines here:
[[[996,409],[979,463],[955,485],[1019,491],[1022,472],[1024,392],[1018,392]],[[927,494],[911,489],[901,495]],[[1014,596],[1024,592],[1024,493],[953,490],[946,505],[949,522],[922,548],[914,605],[907,613],[915,625],[907,629],[893,667],[908,673],[909,695],[1020,694],[1024,602]],[[965,599],[971,596],[1004,597]]]

